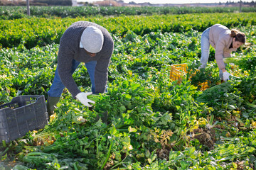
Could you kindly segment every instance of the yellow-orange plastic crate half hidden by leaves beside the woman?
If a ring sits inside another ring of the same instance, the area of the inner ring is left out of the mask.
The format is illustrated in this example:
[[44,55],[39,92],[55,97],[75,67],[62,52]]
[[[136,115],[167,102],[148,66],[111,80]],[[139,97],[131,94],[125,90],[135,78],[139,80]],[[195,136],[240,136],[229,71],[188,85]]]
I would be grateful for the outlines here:
[[[180,84],[183,77],[186,77],[186,73],[187,73],[187,64],[186,63],[172,64],[171,71],[170,71],[170,79],[172,81],[177,80],[178,84]],[[204,91],[209,88],[207,81],[199,84],[199,86],[201,86],[201,91]]]

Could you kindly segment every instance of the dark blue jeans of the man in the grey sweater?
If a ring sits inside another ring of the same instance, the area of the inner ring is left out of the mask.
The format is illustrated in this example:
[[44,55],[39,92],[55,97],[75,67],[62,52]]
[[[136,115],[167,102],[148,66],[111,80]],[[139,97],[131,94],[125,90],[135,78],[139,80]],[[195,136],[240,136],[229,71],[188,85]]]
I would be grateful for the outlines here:
[[[75,72],[75,69],[78,68],[80,62],[73,60],[72,62],[72,69],[71,69],[71,74]],[[92,94],[95,94],[95,67],[96,67],[97,61],[91,61],[85,63],[85,67],[87,69],[87,72],[89,73],[90,80],[92,83]],[[53,79],[53,84],[50,86],[50,90],[48,91],[48,96],[50,97],[60,97],[61,94],[63,93],[63,90],[65,89],[65,86],[60,80],[60,76],[58,74],[58,65],[57,69],[55,71],[54,79]]]

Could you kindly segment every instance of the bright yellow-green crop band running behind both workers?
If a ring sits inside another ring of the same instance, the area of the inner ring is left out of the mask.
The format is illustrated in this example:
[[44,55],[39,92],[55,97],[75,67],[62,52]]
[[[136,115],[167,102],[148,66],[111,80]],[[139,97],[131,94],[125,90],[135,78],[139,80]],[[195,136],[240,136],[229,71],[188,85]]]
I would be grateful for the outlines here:
[[185,33],[188,30],[202,32],[215,23],[228,28],[255,26],[256,13],[208,13],[202,15],[153,15],[153,16],[119,16],[93,18],[22,18],[0,20],[1,47],[25,45],[30,49],[59,43],[61,35],[75,21],[92,21],[107,28],[112,35],[123,36],[128,30],[137,35],[145,35],[161,30],[162,33]]

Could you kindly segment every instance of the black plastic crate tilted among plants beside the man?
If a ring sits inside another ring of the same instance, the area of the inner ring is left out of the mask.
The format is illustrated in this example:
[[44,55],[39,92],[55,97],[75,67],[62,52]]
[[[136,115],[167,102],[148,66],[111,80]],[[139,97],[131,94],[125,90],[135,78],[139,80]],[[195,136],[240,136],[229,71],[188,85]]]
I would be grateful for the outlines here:
[[16,140],[46,124],[48,113],[43,95],[17,96],[0,106],[0,142]]

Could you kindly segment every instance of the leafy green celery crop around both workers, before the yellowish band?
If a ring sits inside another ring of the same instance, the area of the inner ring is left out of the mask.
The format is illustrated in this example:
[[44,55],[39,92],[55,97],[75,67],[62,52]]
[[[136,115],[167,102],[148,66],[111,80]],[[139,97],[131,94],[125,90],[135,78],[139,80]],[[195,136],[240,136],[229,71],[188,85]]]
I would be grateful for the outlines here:
[[[255,27],[240,29],[251,46],[235,55],[253,59]],[[232,79],[210,91],[198,91],[186,79],[181,84],[169,79],[171,64],[190,65],[199,60],[200,36],[197,30],[144,35],[129,30],[122,36],[113,35],[108,92],[89,109],[64,91],[46,128],[28,132],[26,145],[19,139],[9,145],[10,152],[18,153],[15,160],[38,170],[253,169],[255,64],[249,65],[247,77],[241,74],[238,81]],[[57,52],[58,44],[30,50],[23,45],[2,48],[0,103],[19,95],[46,95]],[[210,47],[207,69],[218,79],[213,58]],[[90,91],[84,65],[73,77],[82,91]],[[254,103],[248,106],[250,99]],[[109,113],[107,125],[95,120],[103,111]],[[208,116],[214,116],[214,122]]]

